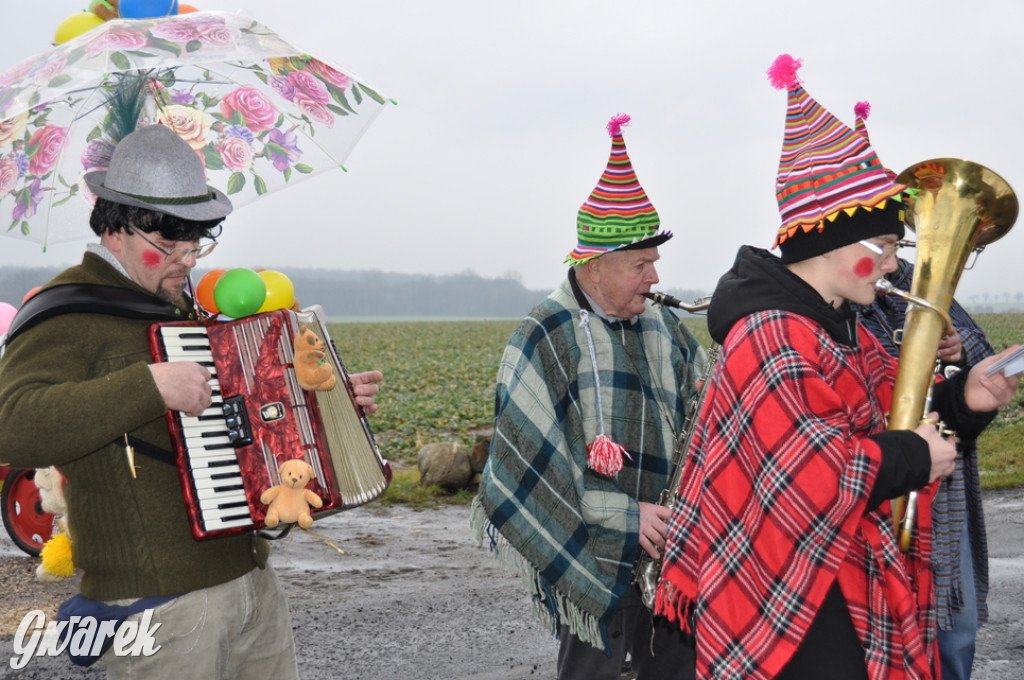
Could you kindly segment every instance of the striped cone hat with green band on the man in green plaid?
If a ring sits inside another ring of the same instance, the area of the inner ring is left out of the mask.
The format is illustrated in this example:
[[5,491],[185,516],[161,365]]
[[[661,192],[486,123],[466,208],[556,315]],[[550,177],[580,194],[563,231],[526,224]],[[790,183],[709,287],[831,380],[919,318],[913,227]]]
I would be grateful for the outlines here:
[[658,231],[660,220],[637,180],[622,128],[630,117],[618,114],[607,125],[611,155],[597,186],[577,214],[577,247],[565,257],[572,266],[613,250],[653,248],[672,238]]

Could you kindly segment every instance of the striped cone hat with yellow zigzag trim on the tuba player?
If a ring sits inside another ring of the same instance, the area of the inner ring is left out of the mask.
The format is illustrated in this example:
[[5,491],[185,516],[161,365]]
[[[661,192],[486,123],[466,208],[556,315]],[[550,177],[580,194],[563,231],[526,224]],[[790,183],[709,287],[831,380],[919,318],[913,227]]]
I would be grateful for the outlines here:
[[[800,233],[815,230],[824,233],[843,214],[853,217],[861,210],[894,209],[892,204],[900,202],[899,197],[906,188],[891,179],[871,147],[863,123],[869,107],[864,102],[858,104],[857,129],[851,129],[807,93],[797,77],[801,66],[800,59],[782,54],[768,69],[771,84],[788,92],[785,135],[775,183],[782,223],[773,247],[782,246]],[[882,220],[888,221],[888,218]],[[843,228],[849,223],[841,221]],[[881,224],[878,228],[883,227]],[[866,238],[855,232],[827,237],[828,245],[834,248]],[[783,248],[783,257],[784,254]]]

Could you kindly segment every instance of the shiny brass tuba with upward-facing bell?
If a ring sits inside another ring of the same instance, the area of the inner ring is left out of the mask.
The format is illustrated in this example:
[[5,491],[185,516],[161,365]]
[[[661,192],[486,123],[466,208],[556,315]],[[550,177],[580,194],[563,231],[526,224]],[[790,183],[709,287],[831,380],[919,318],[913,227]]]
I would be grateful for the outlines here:
[[[971,161],[924,161],[901,172],[896,181],[914,189],[907,223],[916,233],[918,253],[910,293],[905,296],[911,304],[900,343],[889,429],[913,430],[930,407],[939,341],[947,333],[953,291],[968,256],[1010,230],[1018,205],[1006,180]],[[893,292],[883,286],[880,290]],[[892,504],[903,552],[910,549],[915,503],[912,493]]]

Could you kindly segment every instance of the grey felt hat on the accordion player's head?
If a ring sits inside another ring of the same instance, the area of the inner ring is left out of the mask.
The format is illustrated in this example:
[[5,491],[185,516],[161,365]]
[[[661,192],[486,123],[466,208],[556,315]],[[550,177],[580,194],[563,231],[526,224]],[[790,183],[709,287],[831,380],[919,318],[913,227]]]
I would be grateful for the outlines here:
[[193,147],[164,125],[126,135],[114,147],[110,167],[84,179],[97,197],[184,219],[220,219],[231,212],[230,200],[207,185]]

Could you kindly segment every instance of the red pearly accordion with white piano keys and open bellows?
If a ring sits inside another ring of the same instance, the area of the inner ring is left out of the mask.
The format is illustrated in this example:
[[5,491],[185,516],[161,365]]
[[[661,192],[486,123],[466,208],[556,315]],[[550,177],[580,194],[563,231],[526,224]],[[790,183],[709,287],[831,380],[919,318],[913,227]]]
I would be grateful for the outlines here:
[[[377,449],[348,373],[318,307],[269,311],[227,322],[150,327],[157,362],[188,360],[213,374],[203,415],[168,412],[174,456],[193,536],[209,539],[262,527],[260,495],[281,482],[278,468],[300,459],[324,506],[313,517],[378,498],[391,468]],[[304,390],[296,377],[295,336],[310,329],[337,377],[330,390]]]

